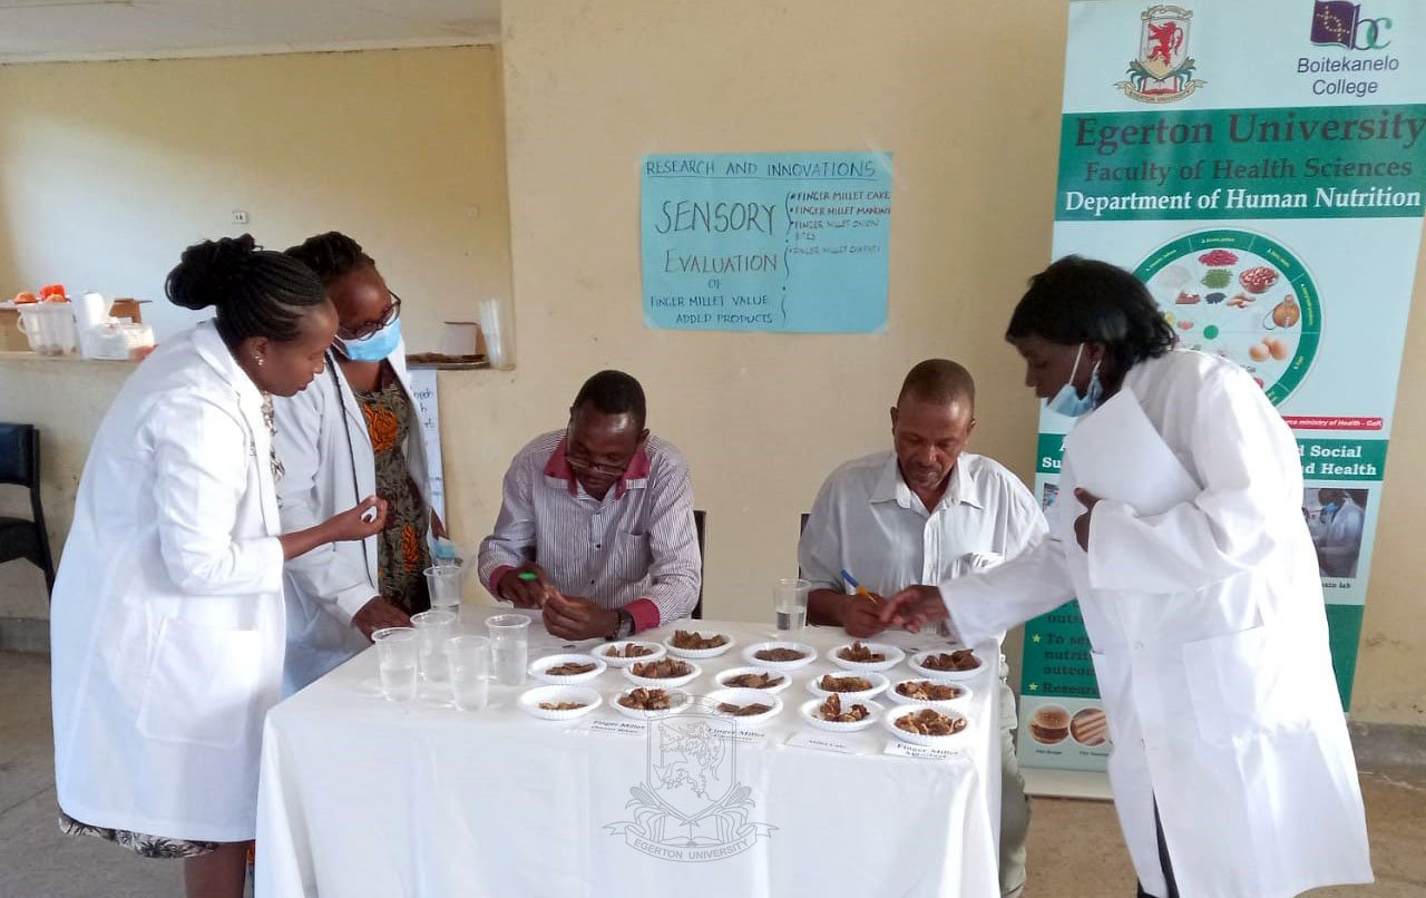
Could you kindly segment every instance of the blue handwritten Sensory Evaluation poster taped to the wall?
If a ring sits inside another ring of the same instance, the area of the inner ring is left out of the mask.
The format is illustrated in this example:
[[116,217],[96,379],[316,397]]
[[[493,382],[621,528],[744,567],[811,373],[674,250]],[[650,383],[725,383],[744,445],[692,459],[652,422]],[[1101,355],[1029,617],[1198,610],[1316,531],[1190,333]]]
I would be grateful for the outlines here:
[[891,157],[649,155],[650,328],[866,334],[887,322]]

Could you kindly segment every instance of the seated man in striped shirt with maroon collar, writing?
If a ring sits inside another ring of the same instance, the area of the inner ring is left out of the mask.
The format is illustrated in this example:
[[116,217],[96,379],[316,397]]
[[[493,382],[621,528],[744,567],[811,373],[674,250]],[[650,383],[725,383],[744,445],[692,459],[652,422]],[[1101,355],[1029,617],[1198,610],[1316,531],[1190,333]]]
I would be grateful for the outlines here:
[[649,436],[643,388],[622,371],[589,378],[568,426],[515,456],[479,560],[492,596],[543,609],[568,640],[687,617],[700,567],[687,465]]

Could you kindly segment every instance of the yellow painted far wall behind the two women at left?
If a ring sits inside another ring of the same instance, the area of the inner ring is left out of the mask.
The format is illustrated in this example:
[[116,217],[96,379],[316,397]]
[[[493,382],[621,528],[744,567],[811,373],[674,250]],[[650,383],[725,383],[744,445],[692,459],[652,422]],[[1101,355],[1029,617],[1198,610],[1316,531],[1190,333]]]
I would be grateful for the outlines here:
[[[509,295],[495,47],[0,67],[0,292],[163,298],[185,245],[355,237],[414,349]],[[231,212],[245,210],[247,225]]]

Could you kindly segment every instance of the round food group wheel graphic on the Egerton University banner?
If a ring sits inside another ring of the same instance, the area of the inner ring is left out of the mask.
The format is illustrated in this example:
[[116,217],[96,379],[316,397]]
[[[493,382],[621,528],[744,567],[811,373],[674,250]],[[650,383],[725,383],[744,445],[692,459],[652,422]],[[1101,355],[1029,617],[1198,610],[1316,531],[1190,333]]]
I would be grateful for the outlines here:
[[1302,383],[1322,338],[1322,301],[1308,267],[1249,231],[1199,231],[1134,269],[1179,345],[1236,362],[1273,405]]

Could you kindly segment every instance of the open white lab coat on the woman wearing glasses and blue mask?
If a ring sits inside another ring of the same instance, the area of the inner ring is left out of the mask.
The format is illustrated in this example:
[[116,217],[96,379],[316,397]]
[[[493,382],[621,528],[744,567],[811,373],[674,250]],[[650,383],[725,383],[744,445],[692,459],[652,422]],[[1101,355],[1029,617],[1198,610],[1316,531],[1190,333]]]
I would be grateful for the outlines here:
[[[406,348],[398,344],[386,359],[411,396]],[[285,473],[278,483],[282,527],[302,530],[376,493],[376,459],[361,405],[341,366],[328,355],[327,371],[295,396],[275,398],[278,458]],[[406,465],[431,509],[426,446],[412,405]],[[381,594],[376,537],[328,543],[287,563],[287,667],[284,693],[291,694],[362,651],[371,643],[352,626],[352,616]]]

